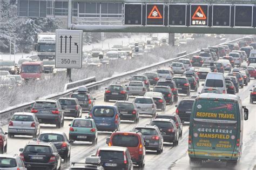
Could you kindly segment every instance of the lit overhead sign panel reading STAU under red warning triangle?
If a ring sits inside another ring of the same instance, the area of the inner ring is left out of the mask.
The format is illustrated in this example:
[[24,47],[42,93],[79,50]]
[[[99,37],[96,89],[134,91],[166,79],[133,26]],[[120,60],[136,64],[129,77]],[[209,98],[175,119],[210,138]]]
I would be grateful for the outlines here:
[[208,25],[208,5],[191,5],[192,26],[207,26]]

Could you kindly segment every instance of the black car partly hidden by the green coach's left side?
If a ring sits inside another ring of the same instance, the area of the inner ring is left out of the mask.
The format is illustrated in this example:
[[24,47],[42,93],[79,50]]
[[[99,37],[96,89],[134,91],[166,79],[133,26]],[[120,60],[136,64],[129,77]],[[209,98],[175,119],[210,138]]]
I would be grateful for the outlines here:
[[181,121],[190,121],[193,104],[194,99],[183,99],[176,105],[177,108],[175,112],[179,115]]

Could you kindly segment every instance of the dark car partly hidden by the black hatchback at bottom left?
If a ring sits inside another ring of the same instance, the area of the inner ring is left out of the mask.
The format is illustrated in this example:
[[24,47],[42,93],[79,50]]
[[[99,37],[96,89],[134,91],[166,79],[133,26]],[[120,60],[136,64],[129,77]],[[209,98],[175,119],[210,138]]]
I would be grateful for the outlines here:
[[68,137],[64,132],[43,132],[36,140],[42,142],[52,142],[57,148],[60,157],[64,159],[64,162],[68,162],[70,160],[71,141],[68,140]]

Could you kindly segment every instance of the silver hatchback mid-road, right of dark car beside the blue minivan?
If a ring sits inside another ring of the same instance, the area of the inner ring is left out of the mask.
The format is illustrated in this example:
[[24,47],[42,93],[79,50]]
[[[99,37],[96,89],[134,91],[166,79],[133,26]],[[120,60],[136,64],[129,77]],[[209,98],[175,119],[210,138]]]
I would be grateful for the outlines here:
[[136,97],[134,103],[139,109],[139,114],[150,114],[152,117],[156,115],[157,106],[152,97]]

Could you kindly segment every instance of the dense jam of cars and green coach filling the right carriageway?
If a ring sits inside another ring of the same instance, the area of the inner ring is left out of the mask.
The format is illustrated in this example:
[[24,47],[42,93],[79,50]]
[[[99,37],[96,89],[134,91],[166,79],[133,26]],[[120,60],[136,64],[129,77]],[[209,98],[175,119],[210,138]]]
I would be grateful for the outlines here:
[[38,99],[0,128],[0,169],[244,169],[250,154],[243,138],[256,120],[255,111],[249,115],[255,69],[256,37],[249,36],[100,94],[80,86],[69,96]]

